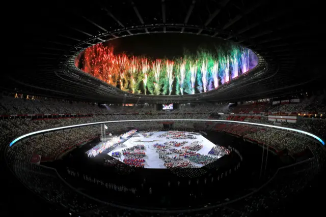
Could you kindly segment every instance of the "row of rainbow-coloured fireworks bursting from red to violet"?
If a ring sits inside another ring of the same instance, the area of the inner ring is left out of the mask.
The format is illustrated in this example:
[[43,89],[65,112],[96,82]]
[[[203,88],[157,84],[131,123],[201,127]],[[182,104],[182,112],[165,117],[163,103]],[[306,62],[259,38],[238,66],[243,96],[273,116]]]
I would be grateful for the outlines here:
[[[75,60],[84,72],[125,91],[137,94],[196,94],[219,88],[253,69],[257,56],[248,48],[233,46],[221,53],[199,52],[177,60],[115,55],[97,44]],[[174,67],[176,66],[176,67]],[[176,78],[176,85],[174,80]],[[141,85],[142,84],[142,85]]]

